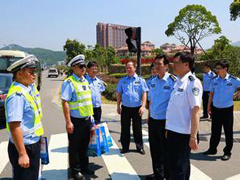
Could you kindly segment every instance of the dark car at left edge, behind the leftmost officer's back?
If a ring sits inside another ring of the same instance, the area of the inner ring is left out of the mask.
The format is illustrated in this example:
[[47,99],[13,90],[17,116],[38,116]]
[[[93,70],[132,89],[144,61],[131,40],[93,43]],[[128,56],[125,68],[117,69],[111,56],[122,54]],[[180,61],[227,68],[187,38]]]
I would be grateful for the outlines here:
[[6,127],[4,103],[12,84],[12,78],[13,75],[11,73],[0,73],[0,129]]

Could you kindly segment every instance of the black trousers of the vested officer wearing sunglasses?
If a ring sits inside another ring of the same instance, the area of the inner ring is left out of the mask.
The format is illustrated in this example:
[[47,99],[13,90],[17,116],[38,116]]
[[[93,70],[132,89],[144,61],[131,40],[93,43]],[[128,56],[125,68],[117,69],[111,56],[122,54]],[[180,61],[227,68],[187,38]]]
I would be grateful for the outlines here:
[[90,141],[90,119],[71,117],[74,125],[72,134],[68,133],[69,166],[72,175],[88,168],[87,148]]

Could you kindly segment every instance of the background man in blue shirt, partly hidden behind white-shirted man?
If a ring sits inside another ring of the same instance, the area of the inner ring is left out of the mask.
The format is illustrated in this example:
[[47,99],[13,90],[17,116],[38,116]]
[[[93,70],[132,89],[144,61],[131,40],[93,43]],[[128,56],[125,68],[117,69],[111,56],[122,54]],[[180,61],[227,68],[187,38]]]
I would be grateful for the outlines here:
[[209,98],[209,91],[210,91],[210,83],[215,73],[211,71],[209,63],[205,63],[203,65],[203,116],[200,119],[207,119],[208,118],[208,98]]

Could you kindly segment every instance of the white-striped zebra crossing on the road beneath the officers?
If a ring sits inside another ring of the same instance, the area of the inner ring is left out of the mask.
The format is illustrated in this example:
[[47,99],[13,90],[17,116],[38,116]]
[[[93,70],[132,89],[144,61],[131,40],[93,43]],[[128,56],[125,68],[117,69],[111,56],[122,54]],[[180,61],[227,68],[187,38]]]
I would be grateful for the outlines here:
[[[148,132],[143,130],[144,145],[149,148]],[[120,147],[117,145],[116,138],[112,139],[113,146],[110,147],[108,154],[103,154],[100,158],[104,162],[104,168],[107,169],[109,176],[113,180],[139,180],[141,179],[134,170],[127,156],[120,153]],[[0,175],[5,166],[9,163],[7,154],[7,141],[0,144]],[[66,180],[68,177],[68,153],[67,153],[67,134],[53,134],[49,141],[50,163],[44,165],[41,171],[41,178],[47,180]],[[0,176],[1,177],[1,176]],[[104,179],[98,177],[99,179]],[[191,180],[210,180],[211,178],[191,165]],[[227,180],[239,180],[240,175],[227,178]]]

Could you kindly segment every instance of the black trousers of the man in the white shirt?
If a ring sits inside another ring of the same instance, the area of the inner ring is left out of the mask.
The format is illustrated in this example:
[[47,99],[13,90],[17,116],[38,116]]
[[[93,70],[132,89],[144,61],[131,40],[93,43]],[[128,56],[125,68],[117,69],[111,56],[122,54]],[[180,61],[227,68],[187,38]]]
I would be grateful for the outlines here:
[[170,180],[189,180],[190,178],[189,140],[189,134],[168,131],[167,167]]

